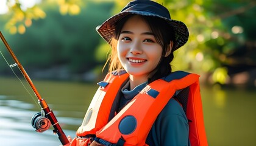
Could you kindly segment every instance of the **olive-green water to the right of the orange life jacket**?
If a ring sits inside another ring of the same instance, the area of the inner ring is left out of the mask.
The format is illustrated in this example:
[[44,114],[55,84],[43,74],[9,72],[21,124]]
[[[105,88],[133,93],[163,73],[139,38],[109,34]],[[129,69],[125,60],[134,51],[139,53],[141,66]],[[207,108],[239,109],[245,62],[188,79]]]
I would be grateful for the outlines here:
[[256,92],[202,88],[209,145],[256,145]]

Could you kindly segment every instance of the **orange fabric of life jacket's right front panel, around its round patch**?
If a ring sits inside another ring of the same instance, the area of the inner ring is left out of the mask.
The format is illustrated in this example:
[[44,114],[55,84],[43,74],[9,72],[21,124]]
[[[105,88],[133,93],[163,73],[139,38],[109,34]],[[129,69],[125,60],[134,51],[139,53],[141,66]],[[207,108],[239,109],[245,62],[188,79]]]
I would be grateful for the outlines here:
[[[148,136],[149,130],[152,127],[157,115],[162,111],[162,108],[169,101],[169,98],[161,98],[159,95],[156,99],[152,98],[147,94],[148,90],[153,88],[156,89],[160,86],[165,87],[165,91],[162,90],[160,94],[165,94],[169,90],[169,94],[165,97],[172,97],[174,90],[166,86],[168,83],[160,80],[160,84],[151,84],[143,89],[140,94],[135,96],[132,101],[130,101],[125,108],[123,108],[110,122],[105,125],[102,130],[96,132],[96,136],[102,139],[107,139],[107,141],[116,143],[119,137],[123,136],[126,140],[124,145],[144,145],[146,141],[146,136]],[[166,88],[167,87],[167,88]],[[157,90],[158,91],[158,90]],[[146,103],[146,104],[143,104]],[[133,115],[137,119],[137,128],[132,134],[121,134],[119,131],[113,134],[111,133],[114,129],[118,130],[118,125],[121,119],[127,115]]]

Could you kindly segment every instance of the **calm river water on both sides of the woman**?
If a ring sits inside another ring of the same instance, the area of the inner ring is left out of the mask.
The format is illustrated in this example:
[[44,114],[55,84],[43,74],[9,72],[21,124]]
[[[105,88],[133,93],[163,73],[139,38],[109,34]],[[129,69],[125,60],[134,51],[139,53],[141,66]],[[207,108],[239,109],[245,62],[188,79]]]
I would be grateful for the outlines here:
[[[66,135],[75,136],[98,88],[79,82],[34,82]],[[60,145],[52,128],[37,133],[30,119],[40,112],[16,78],[0,78],[0,145]],[[28,87],[27,87],[28,88]],[[256,145],[256,90],[202,87],[209,145]]]

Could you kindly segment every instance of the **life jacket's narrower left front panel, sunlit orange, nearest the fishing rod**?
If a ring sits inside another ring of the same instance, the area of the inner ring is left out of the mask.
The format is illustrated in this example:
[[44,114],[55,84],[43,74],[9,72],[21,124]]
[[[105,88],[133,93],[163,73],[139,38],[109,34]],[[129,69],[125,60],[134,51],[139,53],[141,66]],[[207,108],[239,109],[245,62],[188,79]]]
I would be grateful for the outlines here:
[[[115,96],[119,89],[116,87],[121,86],[121,84],[128,78],[128,76],[129,74],[116,76],[110,76],[110,74],[107,74],[104,81],[109,82],[110,85],[106,86],[106,88],[99,87],[88,108],[88,111],[93,109],[91,119],[87,124],[85,124],[86,119],[84,119],[84,122],[76,132],[77,136],[86,136],[87,134],[96,133],[96,131],[107,124],[108,115],[110,114],[113,101],[115,100]],[[115,78],[118,78],[118,80],[114,80]],[[112,84],[113,86],[111,86]],[[87,115],[85,115],[85,118],[86,117]]]

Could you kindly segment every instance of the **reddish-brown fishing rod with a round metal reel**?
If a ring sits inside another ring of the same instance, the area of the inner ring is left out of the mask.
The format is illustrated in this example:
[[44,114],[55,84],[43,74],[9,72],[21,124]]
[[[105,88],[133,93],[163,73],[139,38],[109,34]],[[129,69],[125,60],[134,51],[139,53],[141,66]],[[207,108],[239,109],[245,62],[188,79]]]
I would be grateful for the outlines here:
[[63,132],[62,128],[59,125],[58,120],[56,119],[54,113],[47,105],[46,101],[41,98],[39,92],[37,91],[37,88],[35,88],[34,83],[30,79],[29,75],[27,75],[27,72],[21,65],[20,61],[16,57],[16,55],[13,53],[12,49],[10,48],[9,44],[4,38],[4,35],[2,35],[2,32],[0,31],[0,37],[2,42],[4,43],[5,47],[9,51],[10,55],[12,56],[13,60],[15,61],[15,64],[11,64],[10,68],[13,68],[15,66],[18,66],[23,76],[26,78],[27,83],[29,83],[30,87],[35,93],[35,96],[37,96],[38,103],[41,106],[41,113],[35,114],[32,119],[32,127],[35,128],[35,131],[37,132],[44,132],[49,129],[49,127],[52,125],[54,127],[54,134],[58,134],[60,142],[62,142],[62,145],[69,144],[68,138],[66,137],[65,133]]

